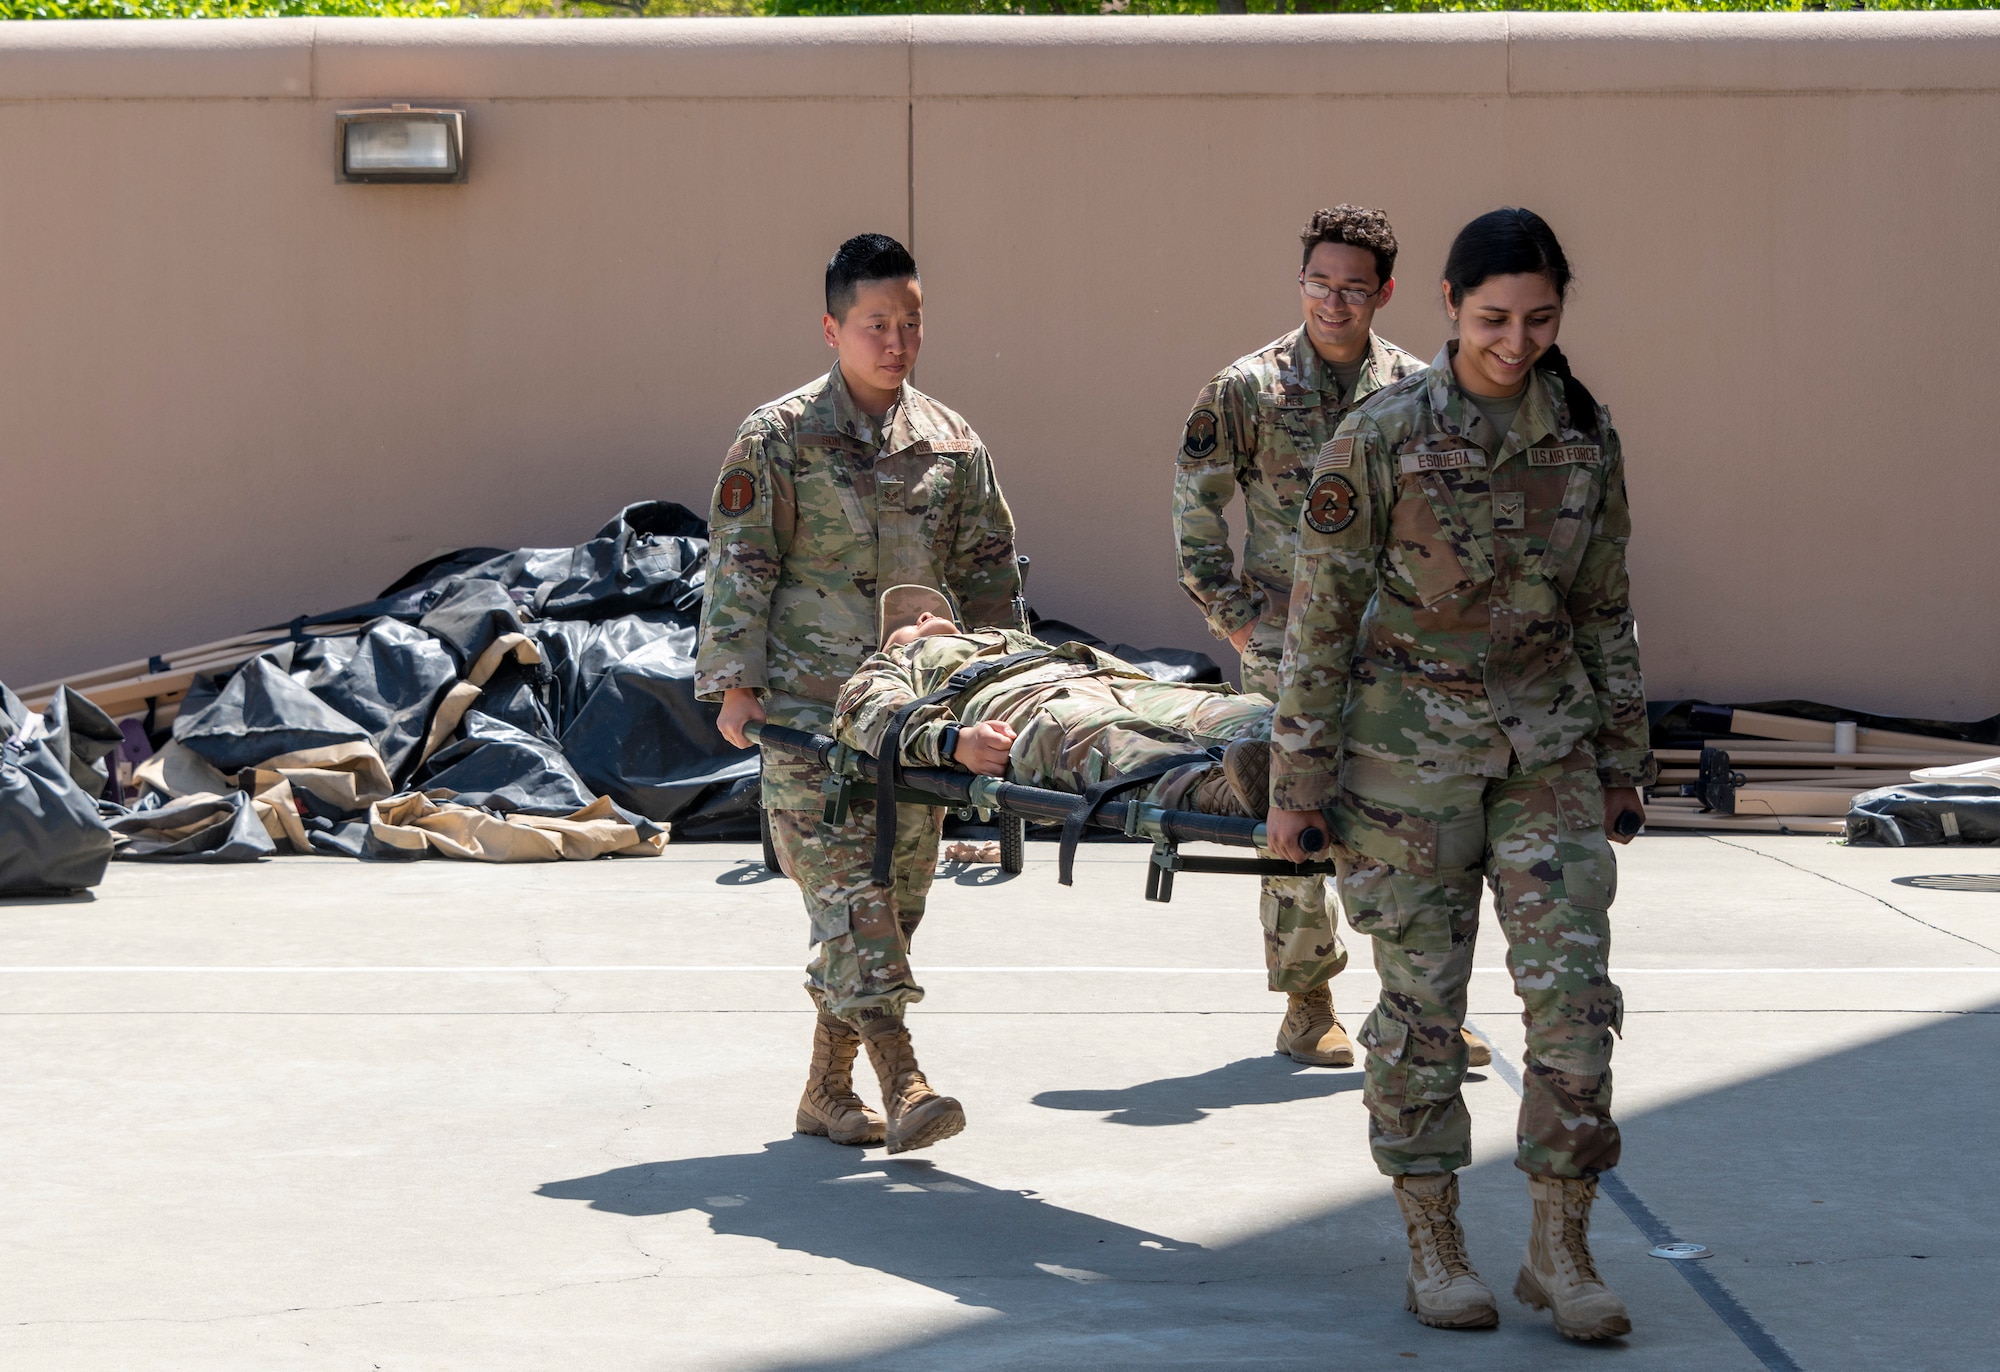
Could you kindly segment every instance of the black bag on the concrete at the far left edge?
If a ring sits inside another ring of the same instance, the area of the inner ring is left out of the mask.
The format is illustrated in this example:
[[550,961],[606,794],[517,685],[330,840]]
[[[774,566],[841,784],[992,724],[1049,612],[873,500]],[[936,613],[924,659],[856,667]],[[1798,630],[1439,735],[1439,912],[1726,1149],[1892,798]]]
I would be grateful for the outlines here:
[[112,832],[46,728],[0,686],[0,896],[96,886],[112,860]]

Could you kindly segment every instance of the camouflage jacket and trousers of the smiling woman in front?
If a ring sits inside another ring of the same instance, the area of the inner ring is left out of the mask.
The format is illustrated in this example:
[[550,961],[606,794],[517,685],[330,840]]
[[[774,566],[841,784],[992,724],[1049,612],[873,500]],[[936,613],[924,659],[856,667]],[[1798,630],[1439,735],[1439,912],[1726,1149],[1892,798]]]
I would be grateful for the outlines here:
[[1306,496],[1272,804],[1326,810],[1352,850],[1340,900],[1376,940],[1382,1002],[1360,1038],[1392,1176],[1470,1160],[1458,1028],[1482,878],[1528,1028],[1518,1166],[1618,1162],[1604,786],[1656,768],[1602,410],[1598,434],[1538,372],[1496,442],[1446,348],[1340,426]]

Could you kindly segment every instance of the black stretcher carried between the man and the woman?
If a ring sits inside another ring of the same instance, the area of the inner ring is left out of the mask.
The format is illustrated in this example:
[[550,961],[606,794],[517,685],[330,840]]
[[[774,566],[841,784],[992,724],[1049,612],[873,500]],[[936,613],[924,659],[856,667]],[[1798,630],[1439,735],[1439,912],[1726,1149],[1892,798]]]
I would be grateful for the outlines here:
[[[844,824],[852,800],[874,800],[880,780],[878,762],[866,752],[848,748],[826,734],[808,734],[782,724],[750,724],[750,740],[766,750],[810,756],[828,770],[826,822]],[[956,810],[960,818],[1000,824],[1000,866],[1020,872],[1024,864],[1022,836],[1030,820],[1062,824],[1064,840],[1058,856],[1058,880],[1070,884],[1076,838],[1084,828],[1114,830],[1128,838],[1150,840],[1152,860],[1146,864],[1146,900],[1174,898],[1178,872],[1220,872],[1228,876],[1332,876],[1330,860],[1284,862],[1280,858],[1216,858],[1184,854],[1180,844],[1222,844],[1226,848],[1256,848],[1266,844],[1264,826],[1256,820],[1200,814],[1196,810],[1166,810],[1144,800],[1116,796],[1074,796],[1066,790],[1022,786],[998,776],[978,776],[958,768],[898,768],[898,804]],[[856,794],[856,788],[860,792]],[[1322,830],[1306,830],[1306,852],[1326,852]]]

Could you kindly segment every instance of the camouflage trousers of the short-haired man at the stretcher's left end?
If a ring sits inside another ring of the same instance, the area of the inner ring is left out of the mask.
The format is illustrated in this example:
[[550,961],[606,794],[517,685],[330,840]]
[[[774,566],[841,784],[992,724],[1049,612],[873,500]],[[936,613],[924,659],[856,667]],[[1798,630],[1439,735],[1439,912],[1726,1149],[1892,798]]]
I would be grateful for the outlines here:
[[872,800],[848,806],[846,824],[826,824],[820,810],[772,810],[778,862],[798,882],[812,918],[806,992],[848,1022],[902,1014],[922,1000],[910,970],[910,938],[924,918],[938,868],[944,810],[896,806],[892,884],[868,880],[874,868]]

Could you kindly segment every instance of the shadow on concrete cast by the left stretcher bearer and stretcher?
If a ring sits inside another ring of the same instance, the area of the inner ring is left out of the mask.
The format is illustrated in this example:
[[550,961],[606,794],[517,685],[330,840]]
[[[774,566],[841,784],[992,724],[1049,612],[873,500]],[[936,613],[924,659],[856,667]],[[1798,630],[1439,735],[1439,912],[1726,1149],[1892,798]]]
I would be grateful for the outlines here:
[[836,1258],[946,1292],[1006,1304],[1006,1280],[1052,1290],[1096,1282],[1184,1282],[1196,1244],[998,1190],[922,1158],[884,1158],[790,1136],[764,1152],[646,1162],[548,1182],[538,1196],[610,1214],[700,1210],[716,1234]]

